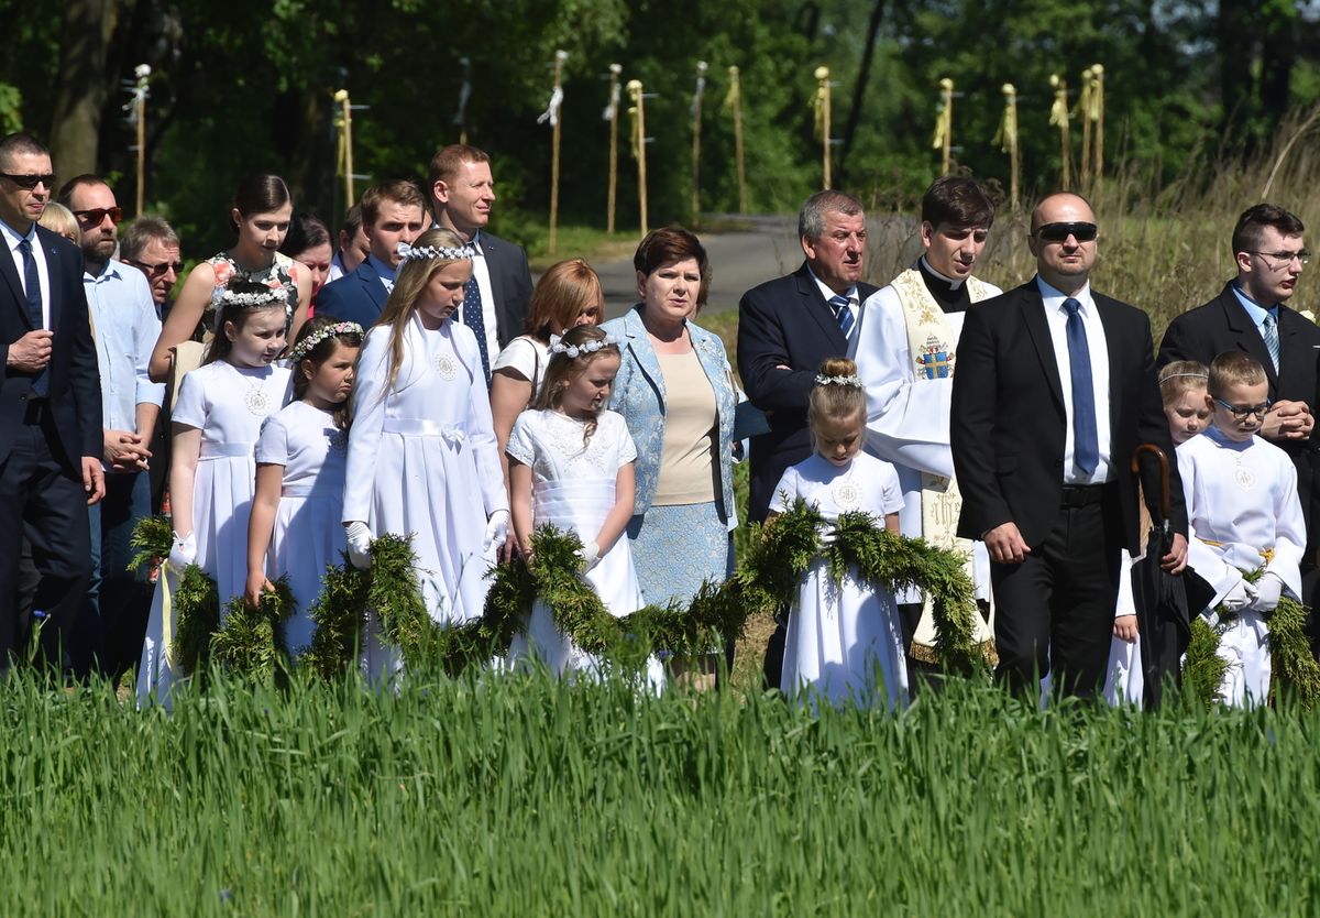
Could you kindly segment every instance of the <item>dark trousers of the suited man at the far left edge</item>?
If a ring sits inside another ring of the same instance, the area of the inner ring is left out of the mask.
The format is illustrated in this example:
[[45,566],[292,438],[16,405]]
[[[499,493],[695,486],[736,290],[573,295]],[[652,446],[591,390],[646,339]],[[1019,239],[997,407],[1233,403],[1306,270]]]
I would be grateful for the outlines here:
[[29,629],[20,612],[20,557],[26,536],[41,575],[32,600],[33,623],[44,621],[42,656],[59,666],[91,576],[91,534],[82,477],[59,460],[49,419],[18,428],[0,464],[0,674],[22,654]]

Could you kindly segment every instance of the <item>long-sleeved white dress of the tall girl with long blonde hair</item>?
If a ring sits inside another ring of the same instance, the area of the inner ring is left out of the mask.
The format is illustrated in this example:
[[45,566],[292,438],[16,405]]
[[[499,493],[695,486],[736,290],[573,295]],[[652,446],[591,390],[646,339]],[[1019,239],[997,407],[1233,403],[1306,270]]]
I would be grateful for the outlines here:
[[[412,535],[428,612],[463,623],[480,617],[490,588],[487,516],[508,510],[480,353],[471,329],[426,329],[414,313],[391,384],[389,334],[371,329],[358,359],[343,520],[366,522],[374,538]],[[374,622],[362,646],[367,676],[399,668]]]

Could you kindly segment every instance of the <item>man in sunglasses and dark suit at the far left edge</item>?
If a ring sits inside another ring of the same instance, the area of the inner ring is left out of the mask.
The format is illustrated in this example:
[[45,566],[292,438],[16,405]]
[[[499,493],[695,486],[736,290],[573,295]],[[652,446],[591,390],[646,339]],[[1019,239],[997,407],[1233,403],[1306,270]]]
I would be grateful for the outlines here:
[[26,634],[17,616],[22,539],[41,573],[42,647],[67,642],[91,575],[87,506],[104,494],[96,355],[82,255],[36,225],[55,177],[26,133],[0,140],[0,674]]

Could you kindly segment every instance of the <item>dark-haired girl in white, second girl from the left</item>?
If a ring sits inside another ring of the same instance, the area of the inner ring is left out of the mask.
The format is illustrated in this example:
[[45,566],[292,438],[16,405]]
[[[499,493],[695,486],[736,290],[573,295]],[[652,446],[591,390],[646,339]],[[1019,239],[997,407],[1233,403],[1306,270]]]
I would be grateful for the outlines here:
[[297,613],[285,622],[294,650],[312,643],[312,605],[326,565],[346,547],[343,479],[348,453],[348,398],[362,326],[333,316],[308,320],[289,354],[293,398],[267,419],[256,441],[256,497],[248,520],[249,605],[288,575]]

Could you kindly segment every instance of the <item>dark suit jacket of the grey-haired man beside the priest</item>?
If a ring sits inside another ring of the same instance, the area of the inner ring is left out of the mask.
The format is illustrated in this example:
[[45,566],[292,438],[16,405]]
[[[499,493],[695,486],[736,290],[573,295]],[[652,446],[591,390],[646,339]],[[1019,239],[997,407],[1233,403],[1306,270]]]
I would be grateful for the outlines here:
[[[857,285],[862,302],[876,289]],[[738,304],[738,374],[747,398],[770,419],[770,432],[751,439],[747,515],[752,520],[766,519],[784,470],[810,456],[807,396],[821,361],[846,354],[847,339],[805,262],[793,273],[747,291]],[[780,365],[792,370],[776,370]]]

